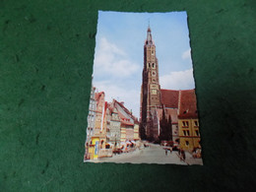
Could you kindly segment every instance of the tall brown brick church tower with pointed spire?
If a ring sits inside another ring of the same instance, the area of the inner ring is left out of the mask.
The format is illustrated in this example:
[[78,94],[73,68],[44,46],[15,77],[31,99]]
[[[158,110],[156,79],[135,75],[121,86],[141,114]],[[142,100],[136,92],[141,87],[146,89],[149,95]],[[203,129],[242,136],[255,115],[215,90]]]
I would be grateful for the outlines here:
[[[160,135],[158,108],[160,108],[159,63],[156,45],[150,27],[144,44],[144,68],[141,87],[141,125],[142,139],[156,141]],[[145,137],[143,136],[145,135]]]

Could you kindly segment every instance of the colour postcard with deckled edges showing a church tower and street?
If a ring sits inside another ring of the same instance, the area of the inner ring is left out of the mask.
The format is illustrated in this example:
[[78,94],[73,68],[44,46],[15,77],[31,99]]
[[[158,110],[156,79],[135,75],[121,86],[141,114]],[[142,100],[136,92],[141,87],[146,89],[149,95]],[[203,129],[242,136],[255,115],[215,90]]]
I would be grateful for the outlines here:
[[203,164],[186,12],[98,12],[85,135],[85,162]]

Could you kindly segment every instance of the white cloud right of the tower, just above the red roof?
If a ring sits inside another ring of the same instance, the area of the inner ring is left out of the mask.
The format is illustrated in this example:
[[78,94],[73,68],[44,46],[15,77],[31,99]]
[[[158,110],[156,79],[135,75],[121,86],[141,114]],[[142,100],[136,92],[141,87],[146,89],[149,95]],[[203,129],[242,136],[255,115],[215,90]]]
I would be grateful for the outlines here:
[[189,90],[195,88],[193,69],[170,72],[160,77],[160,88],[168,90]]

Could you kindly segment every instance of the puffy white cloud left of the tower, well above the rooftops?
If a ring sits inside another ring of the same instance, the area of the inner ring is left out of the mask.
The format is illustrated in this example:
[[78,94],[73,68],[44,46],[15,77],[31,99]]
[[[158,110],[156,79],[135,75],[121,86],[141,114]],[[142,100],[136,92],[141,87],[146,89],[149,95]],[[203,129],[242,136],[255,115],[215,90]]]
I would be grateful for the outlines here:
[[96,47],[95,74],[128,77],[139,69],[137,64],[128,59],[124,50],[106,38],[100,38]]

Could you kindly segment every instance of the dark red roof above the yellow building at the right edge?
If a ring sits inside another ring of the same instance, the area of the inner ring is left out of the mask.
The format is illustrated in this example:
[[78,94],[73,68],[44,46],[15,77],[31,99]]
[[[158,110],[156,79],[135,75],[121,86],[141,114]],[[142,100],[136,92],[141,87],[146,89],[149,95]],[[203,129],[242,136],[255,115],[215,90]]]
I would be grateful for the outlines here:
[[195,90],[180,91],[178,118],[198,118]]

